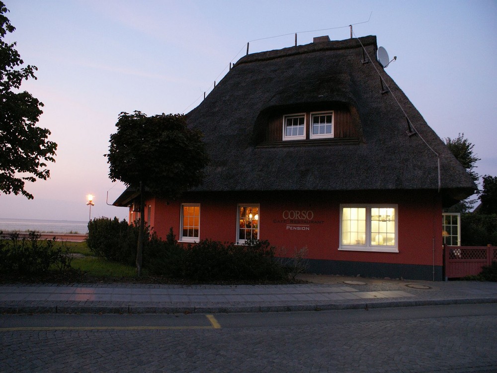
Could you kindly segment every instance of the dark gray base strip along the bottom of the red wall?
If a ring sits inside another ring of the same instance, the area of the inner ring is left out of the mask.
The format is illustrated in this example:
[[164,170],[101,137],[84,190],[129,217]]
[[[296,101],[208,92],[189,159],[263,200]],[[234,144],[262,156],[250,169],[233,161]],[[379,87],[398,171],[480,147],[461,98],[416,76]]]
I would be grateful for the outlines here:
[[[391,278],[406,280],[433,280],[433,266],[392,263],[348,262],[333,260],[309,260],[310,273],[321,275],[341,275]],[[442,281],[442,266],[435,266],[435,281]]]

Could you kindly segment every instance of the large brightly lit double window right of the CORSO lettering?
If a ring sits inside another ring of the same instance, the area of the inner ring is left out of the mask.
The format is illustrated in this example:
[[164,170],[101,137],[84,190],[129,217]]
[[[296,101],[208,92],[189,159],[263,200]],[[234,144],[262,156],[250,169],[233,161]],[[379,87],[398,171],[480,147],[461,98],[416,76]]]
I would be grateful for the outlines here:
[[396,205],[341,205],[339,250],[398,252]]

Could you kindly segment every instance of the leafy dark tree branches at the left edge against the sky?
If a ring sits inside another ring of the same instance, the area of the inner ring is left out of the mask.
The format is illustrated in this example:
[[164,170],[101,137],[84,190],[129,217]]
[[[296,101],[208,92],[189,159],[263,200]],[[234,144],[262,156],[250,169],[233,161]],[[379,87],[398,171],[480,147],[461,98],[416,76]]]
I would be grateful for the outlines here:
[[15,30],[5,16],[8,9],[0,1],[0,192],[32,199],[25,182],[47,180],[46,162],[55,162],[57,144],[48,141],[50,131],[36,126],[43,103],[30,93],[19,92],[23,80],[36,79],[36,66],[20,67],[24,61],[15,50],[16,43],[3,41]]

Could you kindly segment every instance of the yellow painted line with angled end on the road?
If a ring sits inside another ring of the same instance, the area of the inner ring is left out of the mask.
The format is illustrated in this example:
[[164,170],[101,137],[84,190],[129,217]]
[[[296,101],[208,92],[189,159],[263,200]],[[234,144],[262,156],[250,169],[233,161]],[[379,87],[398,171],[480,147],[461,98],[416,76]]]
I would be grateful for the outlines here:
[[55,330],[183,330],[183,329],[221,329],[213,315],[206,315],[211,325],[192,326],[23,326],[16,328],[0,328],[0,332],[16,331],[55,331]]

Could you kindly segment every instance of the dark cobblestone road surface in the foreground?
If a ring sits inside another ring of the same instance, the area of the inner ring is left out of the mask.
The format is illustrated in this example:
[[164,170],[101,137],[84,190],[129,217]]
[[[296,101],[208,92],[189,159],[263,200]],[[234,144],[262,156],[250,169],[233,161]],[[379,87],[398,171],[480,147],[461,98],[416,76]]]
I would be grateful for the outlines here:
[[2,331],[0,372],[497,372],[496,335],[495,316],[207,330]]

